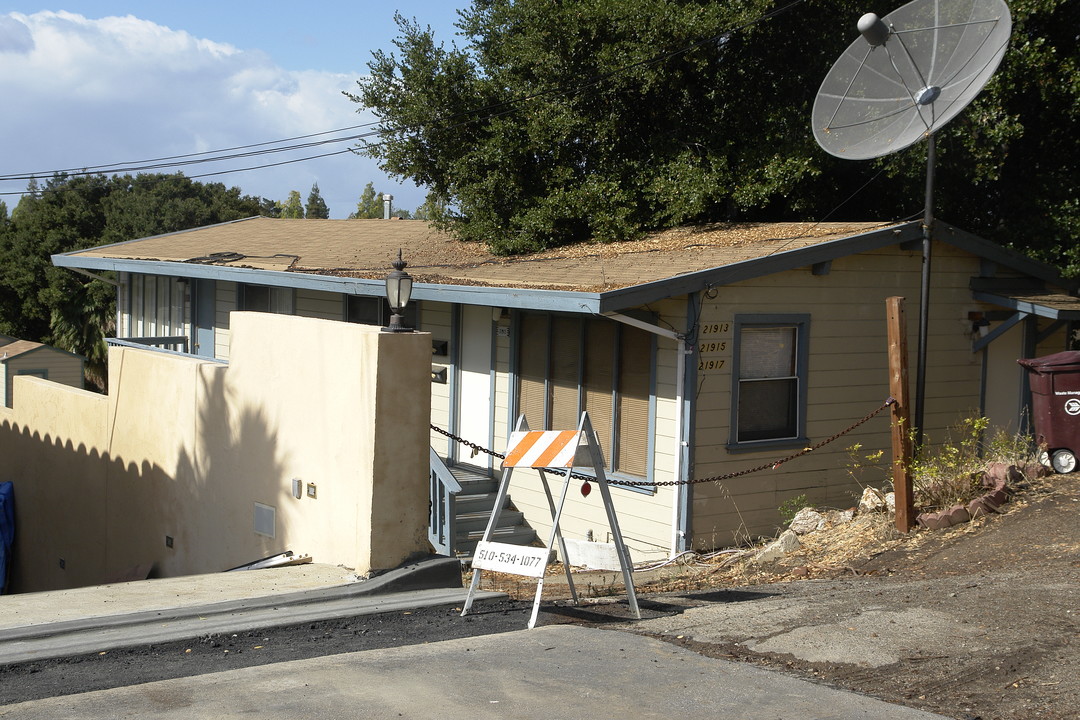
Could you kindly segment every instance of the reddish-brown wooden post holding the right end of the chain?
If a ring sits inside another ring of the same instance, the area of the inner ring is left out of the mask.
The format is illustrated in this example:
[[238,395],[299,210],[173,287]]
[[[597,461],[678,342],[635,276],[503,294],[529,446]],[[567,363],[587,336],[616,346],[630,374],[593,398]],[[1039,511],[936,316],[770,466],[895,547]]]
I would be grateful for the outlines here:
[[907,321],[904,298],[886,298],[889,325],[889,394],[892,404],[892,489],[896,501],[896,529],[915,527],[912,488],[912,435],[907,397]]

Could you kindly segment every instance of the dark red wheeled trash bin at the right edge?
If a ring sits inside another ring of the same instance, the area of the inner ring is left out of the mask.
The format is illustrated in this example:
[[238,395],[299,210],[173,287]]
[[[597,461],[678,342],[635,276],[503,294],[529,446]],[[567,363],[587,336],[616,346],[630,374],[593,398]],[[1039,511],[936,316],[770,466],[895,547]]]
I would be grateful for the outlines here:
[[1028,371],[1036,441],[1047,449],[1040,460],[1055,472],[1071,473],[1080,452],[1080,352],[1016,362]]

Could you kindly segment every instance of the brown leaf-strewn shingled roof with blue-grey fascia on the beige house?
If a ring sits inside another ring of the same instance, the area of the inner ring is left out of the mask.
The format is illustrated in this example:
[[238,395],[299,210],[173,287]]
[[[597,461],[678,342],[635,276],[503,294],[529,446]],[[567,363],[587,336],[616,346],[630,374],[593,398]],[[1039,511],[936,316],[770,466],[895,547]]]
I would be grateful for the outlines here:
[[[946,242],[980,254],[1004,253],[994,259],[1053,274],[993,243],[961,231],[954,234]],[[53,262],[381,295],[382,280],[401,248],[416,299],[604,312],[921,236],[918,222],[723,223],[499,257],[417,220],[248,218],[57,255]]]

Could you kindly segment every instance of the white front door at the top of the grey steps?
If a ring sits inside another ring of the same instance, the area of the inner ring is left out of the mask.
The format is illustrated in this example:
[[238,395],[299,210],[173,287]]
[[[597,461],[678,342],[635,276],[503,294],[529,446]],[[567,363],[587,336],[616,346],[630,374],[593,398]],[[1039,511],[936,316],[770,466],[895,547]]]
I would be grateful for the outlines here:
[[[461,353],[458,362],[458,435],[484,448],[491,447],[491,309],[461,308]],[[491,457],[475,457],[458,445],[455,460],[487,467]]]

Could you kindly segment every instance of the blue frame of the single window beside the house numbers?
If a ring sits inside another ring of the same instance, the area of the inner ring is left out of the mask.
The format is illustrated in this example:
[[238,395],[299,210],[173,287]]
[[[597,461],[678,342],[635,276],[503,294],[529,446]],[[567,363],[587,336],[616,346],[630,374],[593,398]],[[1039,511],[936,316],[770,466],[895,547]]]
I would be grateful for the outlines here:
[[[795,328],[795,436],[760,440],[739,439],[739,400],[742,389],[742,331],[745,328]],[[727,449],[729,452],[752,452],[770,448],[806,447],[807,397],[810,368],[810,315],[808,313],[739,314],[732,322],[731,408]]]

